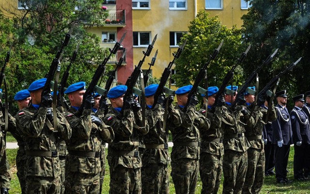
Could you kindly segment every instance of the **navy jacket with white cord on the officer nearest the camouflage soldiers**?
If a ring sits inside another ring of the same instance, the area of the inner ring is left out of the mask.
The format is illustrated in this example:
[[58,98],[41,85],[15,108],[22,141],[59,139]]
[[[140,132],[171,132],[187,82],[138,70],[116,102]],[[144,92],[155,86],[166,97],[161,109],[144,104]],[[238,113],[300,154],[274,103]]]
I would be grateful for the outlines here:
[[283,145],[293,144],[293,132],[290,120],[290,115],[286,107],[282,107],[280,104],[275,106],[277,111],[277,119],[272,122],[273,129],[273,144],[278,144],[278,141],[283,140]]

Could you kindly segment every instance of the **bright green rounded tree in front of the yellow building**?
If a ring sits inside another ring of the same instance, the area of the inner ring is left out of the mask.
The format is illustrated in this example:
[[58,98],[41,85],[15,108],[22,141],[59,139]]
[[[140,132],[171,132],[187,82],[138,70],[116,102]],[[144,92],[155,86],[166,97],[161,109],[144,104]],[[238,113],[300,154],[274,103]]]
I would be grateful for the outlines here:
[[[224,40],[217,58],[207,68],[208,85],[220,87],[224,76],[236,62],[236,57],[246,48],[246,45],[241,45],[240,30],[236,27],[229,29],[221,24],[218,16],[208,15],[204,10],[199,11],[188,26],[188,34],[182,38],[181,42],[187,42],[181,57],[175,62],[177,74],[173,77],[178,87],[195,80],[203,64],[210,59],[209,55]],[[233,84],[242,83],[241,75],[242,68],[237,67]]]

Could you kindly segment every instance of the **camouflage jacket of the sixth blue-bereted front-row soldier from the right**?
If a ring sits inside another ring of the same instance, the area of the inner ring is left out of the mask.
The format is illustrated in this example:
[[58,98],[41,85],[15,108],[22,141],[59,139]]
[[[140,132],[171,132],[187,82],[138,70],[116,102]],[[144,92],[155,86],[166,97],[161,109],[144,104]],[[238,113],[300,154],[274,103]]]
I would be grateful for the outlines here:
[[[109,113],[104,117],[104,122],[112,127],[115,138],[108,147],[107,159],[111,168],[123,165],[126,168],[140,168],[142,166],[140,157],[131,156],[129,153],[138,153],[139,134],[148,133],[148,124],[145,119],[145,127],[139,127],[142,123],[140,111],[134,113],[130,109],[125,109],[123,117],[118,116],[119,112],[114,108],[109,109]],[[137,128],[139,127],[139,128]]]

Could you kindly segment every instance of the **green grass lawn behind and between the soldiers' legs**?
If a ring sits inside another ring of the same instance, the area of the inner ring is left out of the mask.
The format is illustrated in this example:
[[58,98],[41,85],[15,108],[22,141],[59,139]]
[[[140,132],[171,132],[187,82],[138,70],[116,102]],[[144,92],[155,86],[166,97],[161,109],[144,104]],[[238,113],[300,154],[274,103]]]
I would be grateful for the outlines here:
[[[107,151],[107,150],[106,150]],[[169,148],[171,152],[171,148]],[[11,180],[11,189],[10,194],[20,194],[20,187],[19,182],[16,176],[16,166],[15,166],[15,158],[16,158],[17,149],[7,149],[7,157],[9,163],[11,165],[12,170],[12,180]],[[294,148],[291,147],[289,163],[288,163],[288,179],[293,180],[293,157],[294,157]],[[107,161],[106,161],[107,163]],[[109,165],[106,164],[106,176],[104,180],[104,188],[102,194],[109,194]],[[169,166],[169,170],[171,171],[171,166]],[[219,188],[219,194],[222,193],[222,186],[223,179],[221,181],[221,185]],[[198,179],[197,187],[196,187],[196,194],[200,194],[202,190],[202,182],[201,179]],[[174,194],[174,185],[172,182],[172,178],[170,177],[170,193]],[[310,194],[310,181],[307,182],[300,182],[294,181],[293,183],[282,185],[276,183],[275,176],[268,176],[265,177],[264,185],[261,191],[261,194]]]

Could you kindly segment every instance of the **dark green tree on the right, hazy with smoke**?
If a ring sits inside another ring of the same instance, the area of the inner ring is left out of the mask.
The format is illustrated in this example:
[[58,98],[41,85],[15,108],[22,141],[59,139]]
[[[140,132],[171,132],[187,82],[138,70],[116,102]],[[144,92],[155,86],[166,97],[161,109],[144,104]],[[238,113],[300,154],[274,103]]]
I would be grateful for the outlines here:
[[310,0],[253,0],[242,19],[244,41],[252,45],[244,64],[245,74],[279,48],[272,65],[263,67],[259,74],[260,88],[303,57],[292,72],[280,78],[278,90],[289,90],[289,98],[310,90],[306,84],[310,82]]

